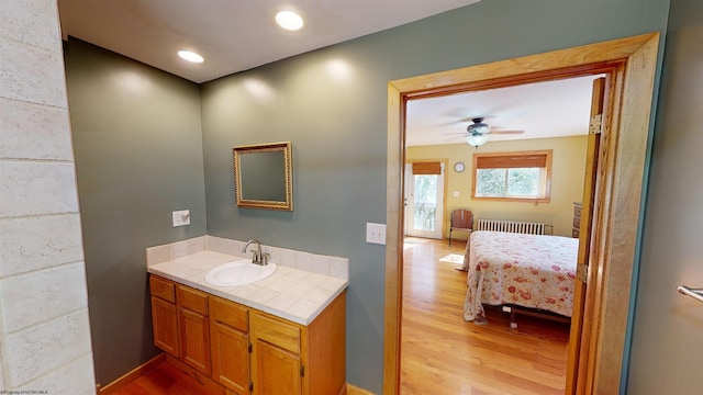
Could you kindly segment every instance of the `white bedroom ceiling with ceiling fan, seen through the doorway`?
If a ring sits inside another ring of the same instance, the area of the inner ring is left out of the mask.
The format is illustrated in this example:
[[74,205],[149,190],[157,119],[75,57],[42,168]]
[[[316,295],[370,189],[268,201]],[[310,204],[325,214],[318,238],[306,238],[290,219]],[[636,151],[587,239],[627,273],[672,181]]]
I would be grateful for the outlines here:
[[408,102],[405,145],[465,143],[471,119],[486,117],[490,142],[585,135],[593,79],[588,76]]

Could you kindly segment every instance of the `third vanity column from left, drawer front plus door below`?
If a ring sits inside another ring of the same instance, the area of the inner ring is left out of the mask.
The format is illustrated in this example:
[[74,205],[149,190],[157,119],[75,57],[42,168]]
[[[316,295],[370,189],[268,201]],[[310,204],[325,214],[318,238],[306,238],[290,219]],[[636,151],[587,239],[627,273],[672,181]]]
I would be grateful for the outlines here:
[[212,379],[237,395],[249,393],[248,308],[210,296]]

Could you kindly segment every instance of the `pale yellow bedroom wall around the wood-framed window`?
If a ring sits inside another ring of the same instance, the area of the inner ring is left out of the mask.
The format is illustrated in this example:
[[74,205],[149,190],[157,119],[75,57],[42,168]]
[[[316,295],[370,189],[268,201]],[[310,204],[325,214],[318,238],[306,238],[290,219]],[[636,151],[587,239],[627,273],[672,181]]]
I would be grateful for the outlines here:
[[[551,200],[549,203],[495,202],[471,199],[475,153],[507,153],[551,149]],[[475,218],[535,221],[551,224],[554,234],[571,236],[573,202],[580,202],[585,171],[585,136],[536,138],[513,142],[489,142],[477,148],[468,144],[415,146],[405,149],[405,159],[447,159],[445,195],[445,237],[449,237],[449,213],[469,208]],[[466,170],[457,173],[454,163],[461,161]],[[455,198],[453,192],[458,191]],[[455,235],[456,237],[457,235]],[[464,235],[459,235],[459,238]]]

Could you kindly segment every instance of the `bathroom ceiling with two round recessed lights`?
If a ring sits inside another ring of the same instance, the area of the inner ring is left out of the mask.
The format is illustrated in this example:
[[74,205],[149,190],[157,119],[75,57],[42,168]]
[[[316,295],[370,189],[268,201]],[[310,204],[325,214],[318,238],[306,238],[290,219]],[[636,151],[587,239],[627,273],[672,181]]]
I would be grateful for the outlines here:
[[[293,55],[399,26],[480,0],[58,0],[68,35],[205,82]],[[274,15],[305,20],[284,31]],[[176,53],[193,50],[203,64]]]

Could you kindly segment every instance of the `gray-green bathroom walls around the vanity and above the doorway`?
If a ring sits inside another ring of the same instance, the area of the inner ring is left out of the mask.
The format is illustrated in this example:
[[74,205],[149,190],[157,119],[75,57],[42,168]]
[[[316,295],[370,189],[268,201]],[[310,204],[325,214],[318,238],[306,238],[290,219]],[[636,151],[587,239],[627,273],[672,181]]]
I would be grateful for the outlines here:
[[[348,257],[347,380],[380,393],[384,248],[365,242],[365,224],[386,222],[388,81],[665,33],[668,7],[483,0],[211,81],[200,95],[192,83],[71,42],[68,97],[98,380],[109,383],[155,353],[144,248],[202,235],[207,223],[213,236]],[[293,146],[295,211],[238,210],[232,146],[280,140]],[[171,228],[170,212],[181,208],[193,223]]]

